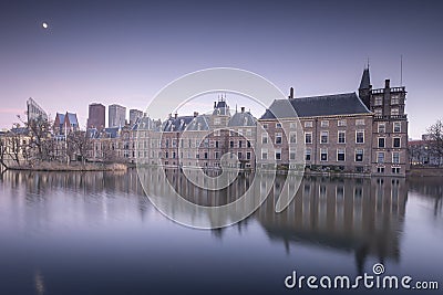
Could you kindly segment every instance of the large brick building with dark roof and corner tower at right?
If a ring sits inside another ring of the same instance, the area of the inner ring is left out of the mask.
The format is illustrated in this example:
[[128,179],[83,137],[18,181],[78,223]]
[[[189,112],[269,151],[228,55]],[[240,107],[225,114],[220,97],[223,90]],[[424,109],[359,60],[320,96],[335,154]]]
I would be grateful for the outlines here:
[[[288,99],[274,101],[259,119],[264,128],[257,128],[257,167],[296,168],[291,160],[299,162],[300,150],[293,149],[302,146],[297,140],[303,140],[305,162],[312,170],[404,176],[409,168],[405,93],[403,86],[390,87],[389,80],[384,88],[372,89],[369,69],[363,71],[359,95],[295,98],[291,89]],[[288,112],[290,107],[297,115]]]

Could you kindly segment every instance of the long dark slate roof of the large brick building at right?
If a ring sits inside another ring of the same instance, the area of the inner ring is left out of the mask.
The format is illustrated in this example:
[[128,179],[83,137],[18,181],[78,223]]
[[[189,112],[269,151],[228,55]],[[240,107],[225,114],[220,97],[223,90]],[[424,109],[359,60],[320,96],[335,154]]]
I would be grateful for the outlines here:
[[260,119],[272,119],[293,117],[293,110],[288,109],[292,106],[298,117],[319,117],[336,115],[370,114],[356,93],[343,93],[323,96],[275,99],[266,109]]

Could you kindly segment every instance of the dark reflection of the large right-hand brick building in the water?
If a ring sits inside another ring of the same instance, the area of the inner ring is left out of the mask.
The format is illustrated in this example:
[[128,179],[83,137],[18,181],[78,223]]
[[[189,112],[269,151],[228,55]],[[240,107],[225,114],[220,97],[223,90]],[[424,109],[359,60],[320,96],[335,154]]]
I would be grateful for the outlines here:
[[[281,190],[277,179],[275,189]],[[305,178],[296,198],[275,213],[268,198],[256,213],[271,239],[353,252],[359,271],[368,256],[400,260],[405,212],[404,179]],[[275,194],[277,196],[277,194]]]

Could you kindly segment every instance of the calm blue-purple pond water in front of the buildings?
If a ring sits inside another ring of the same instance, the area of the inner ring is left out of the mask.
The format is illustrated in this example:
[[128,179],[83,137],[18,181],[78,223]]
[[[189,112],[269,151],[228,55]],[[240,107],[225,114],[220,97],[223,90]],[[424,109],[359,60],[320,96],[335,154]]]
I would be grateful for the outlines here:
[[[271,196],[247,220],[195,230],[159,213],[135,170],[7,171],[0,294],[301,294],[307,289],[285,288],[292,271],[356,276],[372,274],[374,263],[443,287],[442,179],[306,177],[290,206],[275,213],[284,180],[270,183]],[[181,176],[173,181],[186,187]],[[233,191],[241,189],[188,194],[214,204]]]

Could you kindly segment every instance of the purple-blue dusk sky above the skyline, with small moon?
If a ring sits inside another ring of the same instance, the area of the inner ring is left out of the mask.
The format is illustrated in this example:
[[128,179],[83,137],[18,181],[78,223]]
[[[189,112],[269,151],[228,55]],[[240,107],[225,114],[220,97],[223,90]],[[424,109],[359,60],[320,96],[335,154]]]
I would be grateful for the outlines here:
[[[208,67],[257,73],[296,97],[408,91],[410,137],[442,118],[439,1],[0,1],[0,129],[33,97],[52,117],[87,105],[145,109],[169,82]],[[49,28],[43,29],[42,23]],[[233,106],[231,106],[233,107]],[[254,114],[260,116],[261,114]]]

